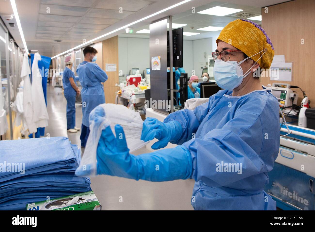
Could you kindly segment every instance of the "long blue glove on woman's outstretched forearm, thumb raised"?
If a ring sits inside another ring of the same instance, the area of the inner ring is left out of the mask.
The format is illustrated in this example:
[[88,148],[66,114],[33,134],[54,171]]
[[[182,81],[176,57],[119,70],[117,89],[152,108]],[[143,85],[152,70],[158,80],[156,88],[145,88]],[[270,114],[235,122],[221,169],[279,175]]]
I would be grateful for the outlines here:
[[97,174],[135,180],[170,181],[192,176],[192,158],[187,148],[163,149],[148,154],[129,154],[125,134],[115,126],[115,137],[108,126],[97,147]]

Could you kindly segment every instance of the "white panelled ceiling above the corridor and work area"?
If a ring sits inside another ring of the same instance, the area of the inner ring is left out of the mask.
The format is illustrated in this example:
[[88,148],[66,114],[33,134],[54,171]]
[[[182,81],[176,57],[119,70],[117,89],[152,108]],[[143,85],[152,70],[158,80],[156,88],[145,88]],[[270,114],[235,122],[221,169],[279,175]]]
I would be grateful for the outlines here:
[[[110,32],[130,22],[151,15],[159,10],[179,3],[182,0],[15,0],[28,49],[39,50],[41,55],[54,56],[81,43]],[[173,15],[173,22],[185,23],[186,32],[200,32],[200,35],[185,36],[184,39],[211,37],[212,32],[197,31],[199,27],[221,26],[235,20],[230,16],[192,14],[213,6],[225,6],[243,9],[260,15],[261,7],[285,2],[285,0],[228,0],[225,2],[210,0],[192,0],[188,3],[165,11],[152,18],[139,22],[132,27],[148,29],[148,25],[159,18]],[[47,9],[49,7],[49,11]],[[119,9],[122,7],[123,12]],[[13,14],[10,1],[0,0],[0,16]],[[14,19],[15,21],[15,19]],[[258,23],[258,21],[257,21]],[[15,42],[23,48],[20,33],[16,27],[5,24]],[[190,29],[194,27],[194,29]],[[135,32],[134,32],[135,33]],[[138,33],[135,33],[138,34]],[[112,33],[100,40],[112,36],[148,37],[148,35],[128,35],[123,30]],[[55,42],[61,40],[61,42]],[[95,41],[97,42],[97,41]]]

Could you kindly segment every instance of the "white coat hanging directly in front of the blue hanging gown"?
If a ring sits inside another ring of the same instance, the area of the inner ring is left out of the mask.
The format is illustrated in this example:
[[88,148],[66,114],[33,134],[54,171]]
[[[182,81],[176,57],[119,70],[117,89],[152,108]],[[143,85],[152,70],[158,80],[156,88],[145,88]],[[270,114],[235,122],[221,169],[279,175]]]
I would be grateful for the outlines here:
[[36,127],[48,126],[48,113],[45,103],[45,97],[42,86],[42,74],[38,68],[38,61],[42,60],[38,52],[34,54],[32,64],[32,105],[33,105],[33,123]]

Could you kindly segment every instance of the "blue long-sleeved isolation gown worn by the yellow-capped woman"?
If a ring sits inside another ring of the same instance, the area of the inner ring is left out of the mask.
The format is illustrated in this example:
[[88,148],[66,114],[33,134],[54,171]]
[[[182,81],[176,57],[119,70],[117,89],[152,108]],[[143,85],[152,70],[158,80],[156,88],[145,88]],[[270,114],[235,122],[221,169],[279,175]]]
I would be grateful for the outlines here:
[[[208,103],[164,119],[183,128],[181,137],[169,142],[182,144],[192,155],[195,210],[276,209],[263,190],[280,142],[279,104],[270,91],[232,96],[232,91],[220,90]],[[242,168],[233,171],[226,164]]]

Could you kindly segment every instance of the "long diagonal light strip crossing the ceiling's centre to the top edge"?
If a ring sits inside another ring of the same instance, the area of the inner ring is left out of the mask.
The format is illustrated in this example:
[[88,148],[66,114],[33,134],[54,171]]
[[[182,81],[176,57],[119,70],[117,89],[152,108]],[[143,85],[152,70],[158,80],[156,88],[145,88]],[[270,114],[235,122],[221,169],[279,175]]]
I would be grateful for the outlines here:
[[[12,0],[11,0],[11,1],[12,1]],[[156,13],[153,13],[152,15],[148,15],[148,16],[142,18],[142,19],[136,20],[136,21],[134,21],[134,22],[132,22],[132,23],[129,23],[129,24],[125,25],[125,26],[119,27],[119,28],[117,28],[117,29],[115,29],[115,30],[113,30],[113,31],[111,31],[111,32],[108,32],[108,33],[106,33],[106,34],[104,34],[104,35],[101,35],[101,36],[99,36],[99,37],[96,37],[96,38],[94,38],[94,39],[91,39],[91,40],[89,40],[89,41],[87,41],[87,42],[85,42],[85,43],[83,43],[83,44],[80,44],[80,45],[78,45],[78,46],[72,48],[72,49],[66,50],[66,51],[64,51],[64,52],[62,52],[62,53],[60,53],[60,54],[58,54],[58,55],[55,55],[55,56],[51,57],[51,59],[54,59],[54,58],[56,58],[56,57],[58,57],[58,56],[60,56],[60,55],[63,55],[63,54],[68,53],[68,52],[70,52],[70,51],[73,51],[74,49],[80,48],[80,47],[82,47],[82,46],[84,46],[84,45],[86,45],[86,44],[90,44],[90,43],[92,43],[92,42],[95,41],[95,40],[98,40],[98,39],[100,39],[100,38],[103,38],[103,37],[105,37],[105,36],[108,36],[108,35],[110,35],[110,34],[112,34],[112,33],[115,33],[115,32],[117,32],[117,31],[119,31],[119,30],[125,29],[126,27],[129,27],[129,26],[131,26],[131,25],[134,25],[134,24],[136,24],[136,23],[138,23],[138,22],[141,22],[141,21],[143,21],[143,20],[146,20],[146,19],[148,19],[148,18],[151,18],[151,17],[153,17],[153,16],[155,16],[155,15],[161,14],[161,13],[163,13],[164,11],[167,11],[167,10],[169,10],[169,9],[172,9],[172,8],[174,8],[174,7],[177,7],[177,6],[179,6],[179,5],[182,5],[182,4],[187,3],[187,2],[190,2],[190,1],[192,1],[192,0],[185,0],[185,1],[182,1],[182,2],[177,3],[177,4],[175,4],[175,5],[172,5],[172,6],[168,7],[168,8],[165,8],[165,9],[163,9],[163,10],[157,11]]]

